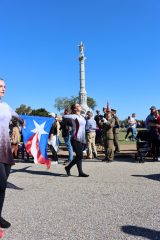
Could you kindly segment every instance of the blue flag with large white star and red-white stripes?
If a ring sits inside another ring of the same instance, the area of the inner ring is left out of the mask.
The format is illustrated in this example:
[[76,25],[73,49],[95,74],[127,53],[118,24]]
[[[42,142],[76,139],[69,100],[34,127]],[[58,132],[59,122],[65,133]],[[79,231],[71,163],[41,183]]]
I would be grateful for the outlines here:
[[54,118],[26,115],[20,117],[25,121],[22,134],[26,151],[33,156],[35,163],[46,164],[49,169],[51,161],[47,156],[47,144]]

